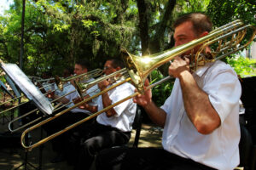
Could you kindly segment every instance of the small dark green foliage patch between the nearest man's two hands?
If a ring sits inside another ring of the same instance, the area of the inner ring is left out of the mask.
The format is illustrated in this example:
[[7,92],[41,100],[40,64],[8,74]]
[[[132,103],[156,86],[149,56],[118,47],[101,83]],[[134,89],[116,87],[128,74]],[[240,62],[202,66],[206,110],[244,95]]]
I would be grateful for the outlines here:
[[[160,73],[160,71],[154,70],[151,73],[151,79],[152,81],[150,83],[158,82],[163,77],[163,75]],[[166,99],[170,96],[172,92],[173,82],[166,81],[161,83],[160,85],[155,86],[152,89],[152,99],[154,100],[154,103],[158,106],[163,105]]]

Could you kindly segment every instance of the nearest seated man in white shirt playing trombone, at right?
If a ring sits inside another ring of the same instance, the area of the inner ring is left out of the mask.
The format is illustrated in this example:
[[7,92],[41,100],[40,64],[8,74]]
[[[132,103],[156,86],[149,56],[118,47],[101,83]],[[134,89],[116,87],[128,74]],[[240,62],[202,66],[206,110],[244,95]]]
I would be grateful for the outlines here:
[[[175,46],[206,36],[212,22],[206,14],[185,14],[174,24]],[[198,48],[194,48],[194,54]],[[210,48],[206,49],[210,52]],[[188,51],[185,54],[190,54]],[[102,150],[96,169],[234,169],[239,164],[239,99],[236,72],[222,61],[191,71],[193,58],[177,57],[169,66],[176,77],[171,96],[158,108],[147,90],[134,101],[164,127],[163,149]],[[145,82],[145,86],[148,81]]]

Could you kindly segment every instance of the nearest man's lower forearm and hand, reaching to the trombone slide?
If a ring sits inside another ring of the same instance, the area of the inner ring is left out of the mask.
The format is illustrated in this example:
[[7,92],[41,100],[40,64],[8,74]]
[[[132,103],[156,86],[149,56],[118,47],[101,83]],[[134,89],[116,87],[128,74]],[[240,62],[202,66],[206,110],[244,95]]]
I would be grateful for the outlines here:
[[[148,80],[145,82],[145,86],[149,85]],[[144,94],[139,94],[135,99],[133,99],[137,105],[142,105],[144,110],[147,112],[150,119],[159,125],[160,127],[164,127],[166,123],[166,111],[160,109],[154,102],[152,101],[151,90],[148,89]]]

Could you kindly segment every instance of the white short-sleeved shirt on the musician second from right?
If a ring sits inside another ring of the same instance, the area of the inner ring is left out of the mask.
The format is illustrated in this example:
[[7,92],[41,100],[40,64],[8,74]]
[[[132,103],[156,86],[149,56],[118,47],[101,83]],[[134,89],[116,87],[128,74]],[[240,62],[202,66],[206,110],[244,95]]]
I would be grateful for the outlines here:
[[[110,87],[110,86],[109,86]],[[134,94],[134,86],[129,82],[113,88],[108,91],[109,98],[112,100],[112,104],[118,102],[120,99]],[[98,111],[103,109],[102,96],[99,96],[98,99]],[[131,132],[132,122],[134,121],[136,115],[137,105],[133,103],[132,99],[128,99],[125,102],[116,105],[113,107],[114,111],[117,113],[114,116],[106,116],[106,113],[103,112],[101,115],[97,116],[96,121],[102,125],[109,125],[111,127],[116,127],[122,132]]]

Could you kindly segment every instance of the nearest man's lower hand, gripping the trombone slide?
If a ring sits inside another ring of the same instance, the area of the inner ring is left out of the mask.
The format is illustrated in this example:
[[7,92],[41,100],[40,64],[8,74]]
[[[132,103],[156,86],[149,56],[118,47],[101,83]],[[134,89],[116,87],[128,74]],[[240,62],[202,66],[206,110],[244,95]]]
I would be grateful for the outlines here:
[[[146,89],[149,85],[148,79],[145,81],[145,87],[144,89]],[[135,90],[137,91],[137,89]],[[135,97],[133,99],[134,103],[137,103],[137,105],[142,105],[143,107],[146,107],[152,99],[152,93],[151,93],[151,89],[148,89],[144,92],[144,94],[138,94],[137,97]]]

